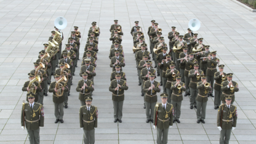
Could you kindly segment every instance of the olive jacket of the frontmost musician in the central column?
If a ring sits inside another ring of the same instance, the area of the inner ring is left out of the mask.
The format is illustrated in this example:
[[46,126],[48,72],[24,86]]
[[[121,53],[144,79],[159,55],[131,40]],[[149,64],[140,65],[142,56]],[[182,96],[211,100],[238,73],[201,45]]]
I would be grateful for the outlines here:
[[109,87],[110,92],[112,92],[112,100],[116,102],[124,101],[124,90],[128,89],[128,85],[123,79],[120,79],[119,85],[121,86],[119,87],[119,90],[114,90],[118,87],[118,81],[114,79],[110,82]]

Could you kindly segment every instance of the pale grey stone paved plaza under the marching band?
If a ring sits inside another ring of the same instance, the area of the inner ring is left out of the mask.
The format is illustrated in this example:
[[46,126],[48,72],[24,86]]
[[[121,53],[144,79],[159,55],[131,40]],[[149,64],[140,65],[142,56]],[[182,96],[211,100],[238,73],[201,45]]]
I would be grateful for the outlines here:
[[[166,41],[171,26],[176,26],[180,34],[185,34],[191,18],[201,21],[198,38],[204,44],[217,50],[220,64],[225,73],[234,73],[240,91],[236,93],[238,124],[231,134],[230,143],[256,143],[256,15],[231,0],[1,0],[0,1],[0,143],[29,143],[26,130],[21,129],[20,114],[26,92],[22,86],[28,81],[28,73],[33,70],[33,62],[43,49],[50,31],[54,30],[54,20],[63,16],[68,26],[62,30],[63,44],[67,43],[73,26],[79,26],[82,33],[81,49],[86,45],[87,31],[92,22],[97,22],[101,34],[98,45],[98,60],[94,79],[95,91],[92,105],[98,106],[98,128],[95,143],[127,144],[156,143],[156,130],[147,124],[143,97],[140,96],[137,69],[132,52],[130,28],[138,20],[146,34],[151,20],[156,20],[162,28]],[[114,123],[113,103],[110,86],[110,60],[108,58],[111,41],[110,26],[118,19],[124,36],[122,46],[129,89],[125,92],[122,123]],[[146,43],[149,45],[148,36]],[[62,48],[64,49],[64,47]],[[82,59],[82,55],[80,55]],[[64,110],[64,123],[55,124],[52,94],[44,97],[44,127],[41,127],[41,143],[82,143],[79,128],[78,92],[76,86],[81,79],[78,61],[68,108]],[[52,77],[53,79],[53,77]],[[156,79],[159,81],[159,77]],[[160,93],[161,94],[161,93]],[[161,102],[158,94],[158,102]],[[214,99],[207,102],[206,124],[196,123],[196,110],[190,110],[189,97],[182,102],[180,124],[169,129],[169,143],[218,143],[217,110]]]

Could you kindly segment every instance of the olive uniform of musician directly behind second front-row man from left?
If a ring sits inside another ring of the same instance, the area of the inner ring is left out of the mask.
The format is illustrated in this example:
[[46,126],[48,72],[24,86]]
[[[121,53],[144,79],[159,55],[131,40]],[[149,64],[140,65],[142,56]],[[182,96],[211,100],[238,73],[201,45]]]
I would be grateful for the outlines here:
[[[87,84],[87,87],[85,87],[85,89],[82,89],[82,87],[84,86],[84,82]],[[80,100],[81,106],[86,105],[84,98],[91,96],[93,91],[94,91],[94,82],[88,79],[86,79],[86,81],[84,81],[84,79],[81,79],[80,81],[78,81],[76,92],[79,92],[78,99]]]

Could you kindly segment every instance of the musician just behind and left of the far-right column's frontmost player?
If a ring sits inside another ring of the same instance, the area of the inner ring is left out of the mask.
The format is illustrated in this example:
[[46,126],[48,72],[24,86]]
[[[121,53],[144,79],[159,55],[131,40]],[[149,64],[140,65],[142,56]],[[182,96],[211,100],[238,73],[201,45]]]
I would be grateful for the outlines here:
[[220,105],[220,96],[222,95],[222,82],[226,81],[226,73],[223,72],[225,65],[218,65],[218,70],[214,74],[214,109],[217,110],[217,108]]

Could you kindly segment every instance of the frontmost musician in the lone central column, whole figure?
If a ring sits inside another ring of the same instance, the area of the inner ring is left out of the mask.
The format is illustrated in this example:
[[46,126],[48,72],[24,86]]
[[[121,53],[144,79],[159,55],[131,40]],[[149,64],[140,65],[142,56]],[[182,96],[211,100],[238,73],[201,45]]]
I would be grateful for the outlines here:
[[114,105],[114,122],[122,122],[122,105],[124,104],[124,90],[128,89],[126,81],[121,79],[121,74],[116,73],[116,79],[110,82],[110,92]]

